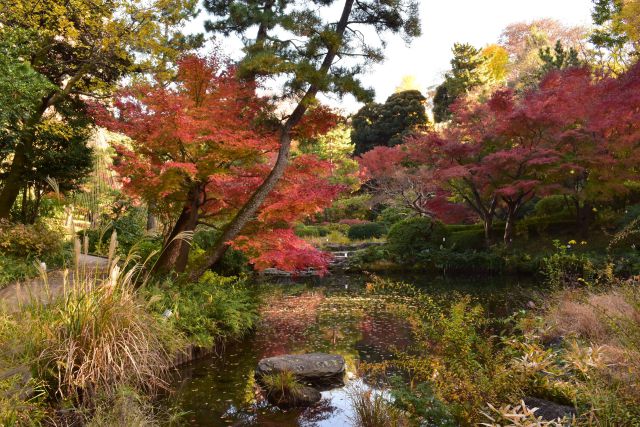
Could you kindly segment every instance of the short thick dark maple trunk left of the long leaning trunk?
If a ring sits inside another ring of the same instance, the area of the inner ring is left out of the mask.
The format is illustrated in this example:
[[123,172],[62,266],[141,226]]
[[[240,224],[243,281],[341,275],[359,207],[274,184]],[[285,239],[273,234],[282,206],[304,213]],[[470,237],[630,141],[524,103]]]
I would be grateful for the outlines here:
[[171,270],[177,273],[184,272],[189,260],[190,242],[177,237],[185,231],[194,231],[198,225],[198,211],[200,208],[200,187],[189,192],[189,199],[182,208],[180,216],[176,220],[167,239],[158,261],[153,267],[154,273],[168,273]]

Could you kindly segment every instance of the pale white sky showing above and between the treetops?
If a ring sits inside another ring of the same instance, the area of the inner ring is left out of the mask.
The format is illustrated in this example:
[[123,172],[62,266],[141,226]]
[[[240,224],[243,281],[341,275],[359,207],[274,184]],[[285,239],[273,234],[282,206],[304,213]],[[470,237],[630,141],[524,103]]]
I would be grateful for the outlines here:
[[[374,65],[362,80],[375,88],[376,101],[393,93],[405,75],[415,77],[426,92],[443,79],[449,69],[451,47],[455,42],[470,43],[478,48],[498,41],[507,25],[553,18],[565,25],[589,26],[591,0],[420,0],[422,36],[406,45],[398,38],[389,38],[386,60]],[[189,32],[202,32],[206,12],[188,25]],[[239,57],[241,44],[224,40],[223,47],[232,57]],[[347,113],[360,104],[353,99],[329,102]]]

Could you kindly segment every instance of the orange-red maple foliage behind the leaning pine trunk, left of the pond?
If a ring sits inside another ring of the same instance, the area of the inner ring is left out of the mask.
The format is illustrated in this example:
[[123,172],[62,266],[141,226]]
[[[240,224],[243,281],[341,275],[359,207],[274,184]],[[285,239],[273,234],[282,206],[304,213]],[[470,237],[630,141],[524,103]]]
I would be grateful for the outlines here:
[[[177,216],[159,264],[183,271],[189,245],[172,239],[201,223],[223,227],[268,175],[278,138],[270,105],[232,66],[215,55],[187,56],[178,66],[174,84],[134,85],[116,95],[113,109],[96,108],[96,117],[131,139],[117,149],[124,190]],[[313,111],[317,117],[305,118],[301,134],[325,129],[330,112]],[[337,196],[330,172],[327,162],[296,157],[255,220],[230,243],[259,269],[324,269],[326,256],[297,238],[291,225]]]

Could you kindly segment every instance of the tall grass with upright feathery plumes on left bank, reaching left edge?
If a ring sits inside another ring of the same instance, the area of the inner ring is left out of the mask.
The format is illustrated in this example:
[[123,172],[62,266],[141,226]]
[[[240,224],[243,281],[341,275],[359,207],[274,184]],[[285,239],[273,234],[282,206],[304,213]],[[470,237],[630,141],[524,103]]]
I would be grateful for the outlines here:
[[79,262],[76,240],[75,268],[62,275],[59,294],[49,291],[42,268],[47,297],[34,294],[11,314],[0,342],[0,367],[27,366],[49,401],[79,413],[93,413],[104,402],[135,403],[122,400],[123,389],[142,396],[167,389],[175,356],[185,347],[182,335],[138,295],[146,281],[143,265],[134,254],[121,261],[115,242],[114,235],[104,271]]

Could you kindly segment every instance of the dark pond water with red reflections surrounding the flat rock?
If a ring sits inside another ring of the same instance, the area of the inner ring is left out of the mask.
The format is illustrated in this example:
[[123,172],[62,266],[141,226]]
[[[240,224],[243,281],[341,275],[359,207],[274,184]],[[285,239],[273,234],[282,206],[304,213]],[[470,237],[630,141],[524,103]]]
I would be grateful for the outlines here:
[[[530,298],[529,281],[517,278],[443,279],[396,277],[437,298],[469,294],[493,317],[522,308]],[[263,321],[241,342],[228,343],[218,356],[181,367],[175,392],[164,402],[192,426],[348,426],[354,387],[372,389],[359,375],[362,362],[392,359],[412,344],[406,320],[370,300],[363,276],[272,280]],[[285,353],[327,352],[347,362],[345,387],[322,392],[312,408],[281,410],[259,392],[253,372],[261,358]]]

